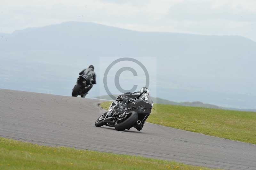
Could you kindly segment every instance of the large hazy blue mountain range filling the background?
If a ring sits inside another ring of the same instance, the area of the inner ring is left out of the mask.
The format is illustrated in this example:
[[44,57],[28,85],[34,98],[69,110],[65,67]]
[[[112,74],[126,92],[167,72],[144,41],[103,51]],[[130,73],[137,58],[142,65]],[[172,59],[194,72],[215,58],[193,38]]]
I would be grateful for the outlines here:
[[[105,95],[102,56],[157,57],[157,82],[150,82],[155,96],[256,109],[256,42],[242,36],[141,32],[83,22],[0,34],[0,88],[70,96],[78,73],[93,64],[99,83],[88,97]],[[109,90],[117,93],[114,86]]]

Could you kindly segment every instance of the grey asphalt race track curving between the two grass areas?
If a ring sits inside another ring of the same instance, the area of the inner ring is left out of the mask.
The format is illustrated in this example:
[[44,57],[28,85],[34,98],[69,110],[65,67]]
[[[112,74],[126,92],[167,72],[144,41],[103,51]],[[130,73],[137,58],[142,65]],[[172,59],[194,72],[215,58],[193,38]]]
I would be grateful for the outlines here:
[[0,89],[0,136],[51,146],[256,169],[256,145],[146,123],[142,131],[94,126],[100,100]]

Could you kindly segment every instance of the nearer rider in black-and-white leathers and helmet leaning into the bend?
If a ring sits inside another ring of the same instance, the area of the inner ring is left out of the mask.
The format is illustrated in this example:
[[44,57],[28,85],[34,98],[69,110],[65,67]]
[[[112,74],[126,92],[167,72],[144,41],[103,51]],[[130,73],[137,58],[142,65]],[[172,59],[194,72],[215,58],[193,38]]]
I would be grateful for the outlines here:
[[[146,88],[146,87],[143,87],[138,92],[134,92],[134,93],[127,92],[127,93],[124,93],[122,95],[119,95],[117,97],[117,99],[119,99],[119,101],[122,101],[122,103],[121,103],[120,107],[116,109],[116,113],[117,114],[124,113],[124,111],[127,110],[127,104],[135,102],[143,94],[147,94],[148,97],[149,97],[149,89]],[[150,99],[150,102],[151,102],[150,104],[153,106],[153,100]],[[149,114],[148,115],[139,114],[139,118],[138,119],[141,121],[141,123],[137,124],[135,126],[135,128],[137,130],[141,130],[142,129],[142,127],[143,127],[146,119],[148,118],[148,116],[149,116]]]

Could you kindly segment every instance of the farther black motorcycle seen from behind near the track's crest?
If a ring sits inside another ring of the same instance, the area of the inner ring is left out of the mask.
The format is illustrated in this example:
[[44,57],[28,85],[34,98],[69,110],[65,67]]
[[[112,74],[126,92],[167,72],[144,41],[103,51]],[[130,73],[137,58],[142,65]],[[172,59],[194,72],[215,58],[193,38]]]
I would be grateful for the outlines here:
[[87,86],[87,82],[87,79],[83,75],[80,75],[77,78],[76,85],[72,90],[72,96],[77,97],[78,95],[80,95],[81,97],[85,97],[90,90]]

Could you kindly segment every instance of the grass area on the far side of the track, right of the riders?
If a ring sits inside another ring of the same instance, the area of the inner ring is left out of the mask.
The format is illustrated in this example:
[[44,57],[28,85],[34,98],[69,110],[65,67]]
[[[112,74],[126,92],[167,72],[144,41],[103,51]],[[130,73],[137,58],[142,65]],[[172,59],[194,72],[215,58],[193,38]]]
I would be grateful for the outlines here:
[[147,122],[256,144],[256,112],[154,104]]

